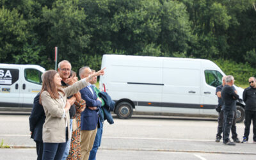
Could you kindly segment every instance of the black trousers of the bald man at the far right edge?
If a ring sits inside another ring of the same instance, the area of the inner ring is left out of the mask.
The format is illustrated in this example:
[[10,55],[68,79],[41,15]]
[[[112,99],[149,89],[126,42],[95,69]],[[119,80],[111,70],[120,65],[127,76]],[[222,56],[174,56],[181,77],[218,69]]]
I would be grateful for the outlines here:
[[244,138],[249,139],[250,125],[253,124],[253,141],[256,141],[256,111],[245,111]]

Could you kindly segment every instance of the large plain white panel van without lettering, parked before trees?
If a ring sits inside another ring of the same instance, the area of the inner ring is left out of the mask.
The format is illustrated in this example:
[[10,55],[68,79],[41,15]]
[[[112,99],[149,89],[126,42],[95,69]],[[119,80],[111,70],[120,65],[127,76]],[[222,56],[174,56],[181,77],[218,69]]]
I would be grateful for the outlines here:
[[[100,90],[115,100],[115,113],[120,118],[130,118],[133,109],[163,115],[218,115],[216,86],[222,84],[225,74],[212,61],[104,54],[101,67],[106,70],[100,77]],[[236,90],[242,98],[243,88]],[[237,122],[243,120],[240,99]]]

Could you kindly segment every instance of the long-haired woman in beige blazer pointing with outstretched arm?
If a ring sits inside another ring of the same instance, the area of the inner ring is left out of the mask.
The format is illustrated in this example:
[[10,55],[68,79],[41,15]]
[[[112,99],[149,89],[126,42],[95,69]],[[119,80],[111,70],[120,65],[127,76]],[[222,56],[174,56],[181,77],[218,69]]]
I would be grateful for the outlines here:
[[44,107],[46,116],[43,126],[44,152],[42,159],[61,159],[67,140],[70,139],[71,133],[68,128],[70,126],[68,112],[70,103],[67,101],[67,97],[88,86],[92,77],[103,74],[104,69],[77,81],[72,86],[61,88],[61,77],[58,72],[56,70],[45,72],[40,92],[40,104]]

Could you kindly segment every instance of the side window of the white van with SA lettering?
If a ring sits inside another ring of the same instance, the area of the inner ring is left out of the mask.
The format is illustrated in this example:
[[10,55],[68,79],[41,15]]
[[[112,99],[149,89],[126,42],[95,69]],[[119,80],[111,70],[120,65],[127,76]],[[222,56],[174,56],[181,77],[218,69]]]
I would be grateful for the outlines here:
[[42,72],[39,70],[33,69],[33,68],[27,68],[25,69],[25,79],[28,82],[36,83],[36,84],[42,84]]

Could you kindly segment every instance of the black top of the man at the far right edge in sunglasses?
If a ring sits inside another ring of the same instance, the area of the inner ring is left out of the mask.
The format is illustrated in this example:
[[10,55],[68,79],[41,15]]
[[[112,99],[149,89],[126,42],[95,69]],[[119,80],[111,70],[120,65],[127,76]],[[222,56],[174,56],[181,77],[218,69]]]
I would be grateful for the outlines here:
[[250,86],[244,89],[243,100],[246,111],[256,111],[256,88]]

